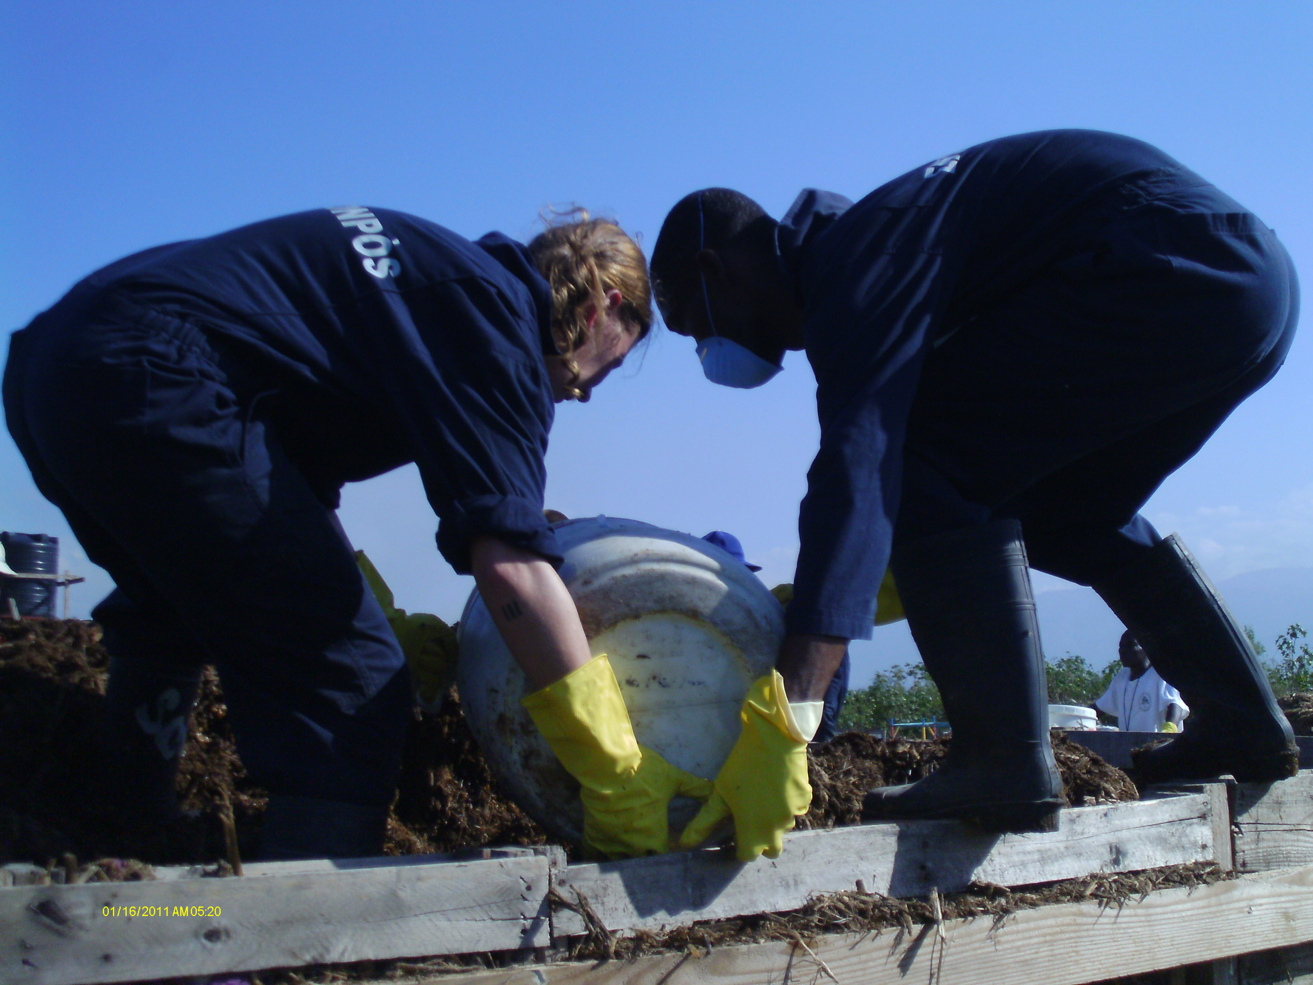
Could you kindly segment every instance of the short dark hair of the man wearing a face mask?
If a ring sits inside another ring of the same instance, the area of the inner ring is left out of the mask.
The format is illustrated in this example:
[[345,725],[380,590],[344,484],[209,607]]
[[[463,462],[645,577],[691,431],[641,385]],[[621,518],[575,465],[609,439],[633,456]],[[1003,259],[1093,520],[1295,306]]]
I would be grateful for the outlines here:
[[704,188],[680,198],[662,223],[653,247],[653,293],[666,323],[683,320],[702,289],[693,259],[699,243],[708,250],[723,250],[742,236],[751,236],[756,229],[773,227],[775,221],[765,209],[731,188]]

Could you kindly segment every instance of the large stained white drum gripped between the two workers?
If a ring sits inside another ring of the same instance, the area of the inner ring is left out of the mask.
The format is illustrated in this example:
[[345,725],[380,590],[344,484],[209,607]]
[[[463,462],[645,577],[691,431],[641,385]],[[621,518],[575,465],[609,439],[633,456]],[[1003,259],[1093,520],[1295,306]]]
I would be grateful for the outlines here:
[[[638,742],[713,779],[739,733],[748,686],[775,666],[784,609],[737,558],[699,537],[597,516],[555,527],[561,578],[593,655],[607,654]],[[457,684],[483,758],[553,834],[583,830],[579,784],[520,707],[524,674],[478,591],[461,616]],[[676,797],[671,830],[696,813]]]

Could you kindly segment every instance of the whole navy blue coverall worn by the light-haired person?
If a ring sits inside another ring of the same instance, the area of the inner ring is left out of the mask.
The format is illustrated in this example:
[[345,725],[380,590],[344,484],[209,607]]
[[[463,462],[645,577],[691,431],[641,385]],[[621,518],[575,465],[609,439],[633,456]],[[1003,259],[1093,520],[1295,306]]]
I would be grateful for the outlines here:
[[16,332],[9,429],[117,586],[112,703],[214,663],[256,783],[385,809],[411,686],[339,490],[414,461],[458,573],[483,535],[558,561],[550,322],[521,244],[351,208],[137,253]]

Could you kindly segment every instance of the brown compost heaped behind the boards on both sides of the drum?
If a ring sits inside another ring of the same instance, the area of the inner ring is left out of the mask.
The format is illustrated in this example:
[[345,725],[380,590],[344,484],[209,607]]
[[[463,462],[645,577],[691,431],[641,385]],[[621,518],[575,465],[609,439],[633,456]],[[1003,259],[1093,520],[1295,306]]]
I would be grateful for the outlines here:
[[[236,755],[218,679],[206,671],[179,771],[177,821],[134,823],[110,810],[100,762],[100,712],[109,658],[93,623],[0,621],[0,862],[46,864],[67,856],[210,863],[259,844],[264,793]],[[811,810],[800,827],[861,820],[873,787],[935,768],[947,742],[839,735],[809,754]],[[1120,770],[1054,738],[1067,800],[1134,800]],[[456,692],[436,714],[416,712],[389,818],[386,851],[427,854],[491,844],[541,844],[546,833],[498,788]],[[109,871],[105,865],[101,869]]]

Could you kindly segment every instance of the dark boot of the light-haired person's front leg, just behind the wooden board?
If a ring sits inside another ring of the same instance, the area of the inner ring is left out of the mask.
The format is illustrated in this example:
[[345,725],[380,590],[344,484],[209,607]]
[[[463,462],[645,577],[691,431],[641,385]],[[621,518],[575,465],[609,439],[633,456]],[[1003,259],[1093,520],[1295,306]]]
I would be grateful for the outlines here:
[[260,826],[260,858],[364,859],[382,855],[386,833],[386,806],[274,793]]

